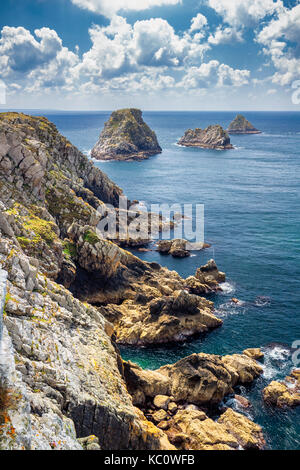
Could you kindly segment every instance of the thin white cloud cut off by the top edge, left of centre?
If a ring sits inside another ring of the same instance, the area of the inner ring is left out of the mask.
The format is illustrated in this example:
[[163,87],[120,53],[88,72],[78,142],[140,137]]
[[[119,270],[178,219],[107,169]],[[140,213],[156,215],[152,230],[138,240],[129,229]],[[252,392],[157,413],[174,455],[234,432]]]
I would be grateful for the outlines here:
[[177,5],[181,0],[71,0],[74,5],[112,17],[121,10],[142,11],[153,7]]

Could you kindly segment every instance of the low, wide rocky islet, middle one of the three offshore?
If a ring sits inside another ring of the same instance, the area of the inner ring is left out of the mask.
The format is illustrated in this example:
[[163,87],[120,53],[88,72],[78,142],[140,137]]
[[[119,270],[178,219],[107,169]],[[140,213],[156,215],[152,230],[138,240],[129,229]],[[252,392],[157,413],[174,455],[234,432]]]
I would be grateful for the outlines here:
[[206,129],[188,129],[178,144],[184,147],[200,147],[215,150],[233,149],[229,135],[219,125],[208,126]]

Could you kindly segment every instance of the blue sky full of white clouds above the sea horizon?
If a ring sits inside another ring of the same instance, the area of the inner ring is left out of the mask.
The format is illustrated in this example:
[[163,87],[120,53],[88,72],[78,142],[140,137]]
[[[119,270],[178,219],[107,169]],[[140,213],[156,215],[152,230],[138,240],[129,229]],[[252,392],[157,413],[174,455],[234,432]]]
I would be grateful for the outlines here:
[[0,3],[0,111],[300,111],[299,97],[300,0]]

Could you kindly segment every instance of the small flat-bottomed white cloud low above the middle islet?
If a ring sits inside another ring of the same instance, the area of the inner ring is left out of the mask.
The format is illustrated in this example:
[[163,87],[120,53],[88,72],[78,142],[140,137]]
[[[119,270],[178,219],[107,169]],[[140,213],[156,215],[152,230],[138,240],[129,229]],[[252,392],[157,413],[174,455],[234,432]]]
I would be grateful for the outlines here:
[[210,88],[235,86],[249,83],[250,71],[233,69],[229,65],[211,60],[200,67],[191,67],[178,86],[184,88]]

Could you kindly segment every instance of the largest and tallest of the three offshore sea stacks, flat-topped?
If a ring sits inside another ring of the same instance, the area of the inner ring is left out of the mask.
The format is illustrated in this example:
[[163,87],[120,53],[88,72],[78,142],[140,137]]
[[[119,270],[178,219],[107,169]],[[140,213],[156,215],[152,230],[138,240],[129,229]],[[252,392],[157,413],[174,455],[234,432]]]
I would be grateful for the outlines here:
[[92,149],[97,160],[144,160],[161,153],[155,132],[144,122],[139,109],[114,111]]

